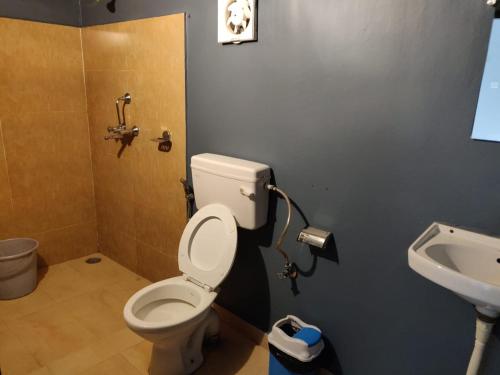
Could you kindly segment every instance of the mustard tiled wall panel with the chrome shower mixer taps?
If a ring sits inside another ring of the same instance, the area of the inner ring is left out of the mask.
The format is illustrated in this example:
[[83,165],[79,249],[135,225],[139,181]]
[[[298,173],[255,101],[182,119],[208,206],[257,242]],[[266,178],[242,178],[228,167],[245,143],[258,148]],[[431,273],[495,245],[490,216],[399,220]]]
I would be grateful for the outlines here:
[[[99,250],[151,280],[170,277],[186,223],[184,15],[84,28],[83,51]],[[105,141],[126,92],[127,123],[140,134],[130,145]],[[151,139],[167,129],[172,149],[160,152]]]

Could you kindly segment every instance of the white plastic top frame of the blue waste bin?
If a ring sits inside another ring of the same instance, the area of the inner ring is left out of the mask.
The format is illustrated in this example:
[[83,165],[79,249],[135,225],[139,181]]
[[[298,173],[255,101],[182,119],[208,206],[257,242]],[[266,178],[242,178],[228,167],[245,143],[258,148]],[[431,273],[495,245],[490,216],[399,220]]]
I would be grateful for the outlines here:
[[301,362],[311,362],[321,354],[323,348],[325,347],[323,339],[319,340],[316,345],[308,346],[303,340],[287,335],[280,328],[285,324],[290,324],[297,330],[302,328],[312,328],[321,333],[321,330],[318,327],[304,323],[294,315],[287,315],[286,318],[280,319],[274,323],[273,328],[267,337],[268,342],[271,345],[274,345],[282,352],[298,359]]

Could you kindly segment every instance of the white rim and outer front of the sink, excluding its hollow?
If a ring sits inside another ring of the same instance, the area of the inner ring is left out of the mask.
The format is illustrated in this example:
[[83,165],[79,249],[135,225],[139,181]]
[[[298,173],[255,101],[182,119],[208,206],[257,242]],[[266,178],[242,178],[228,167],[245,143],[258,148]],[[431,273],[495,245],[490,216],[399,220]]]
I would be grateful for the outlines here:
[[[440,235],[443,236],[443,243],[449,243],[445,241],[444,237],[449,238],[450,235],[453,235],[466,238],[469,243],[482,243],[488,247],[499,249],[499,257],[500,239],[435,222],[431,224],[408,249],[408,264],[415,272],[455,292],[462,298],[475,304],[478,308],[485,309],[487,312],[491,312],[491,314],[497,315],[500,313],[499,285],[484,280],[478,280],[472,276],[453,270],[426,254],[425,250],[432,246],[429,244],[432,243],[431,240]],[[428,245],[427,247],[425,246],[426,244]]]

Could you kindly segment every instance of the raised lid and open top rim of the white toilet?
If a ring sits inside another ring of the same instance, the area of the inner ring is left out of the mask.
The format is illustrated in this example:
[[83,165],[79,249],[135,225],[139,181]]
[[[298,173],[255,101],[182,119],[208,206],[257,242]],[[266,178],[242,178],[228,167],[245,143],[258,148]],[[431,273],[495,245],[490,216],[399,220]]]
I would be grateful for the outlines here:
[[[212,305],[215,288],[231,270],[236,243],[236,220],[226,206],[210,204],[199,210],[186,225],[179,244],[179,270],[184,275],[151,284],[130,297],[124,308],[129,327],[154,332],[199,318]],[[159,318],[162,314],[165,320]]]

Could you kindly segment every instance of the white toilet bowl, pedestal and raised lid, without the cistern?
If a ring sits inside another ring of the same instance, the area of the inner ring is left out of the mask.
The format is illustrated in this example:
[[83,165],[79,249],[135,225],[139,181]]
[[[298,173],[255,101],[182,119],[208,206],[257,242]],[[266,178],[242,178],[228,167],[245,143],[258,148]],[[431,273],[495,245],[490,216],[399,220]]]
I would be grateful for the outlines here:
[[184,375],[203,362],[203,339],[216,336],[211,305],[236,253],[236,222],[220,204],[203,207],[187,224],[179,245],[183,276],[149,285],[125,305],[128,327],[153,343],[149,373]]

